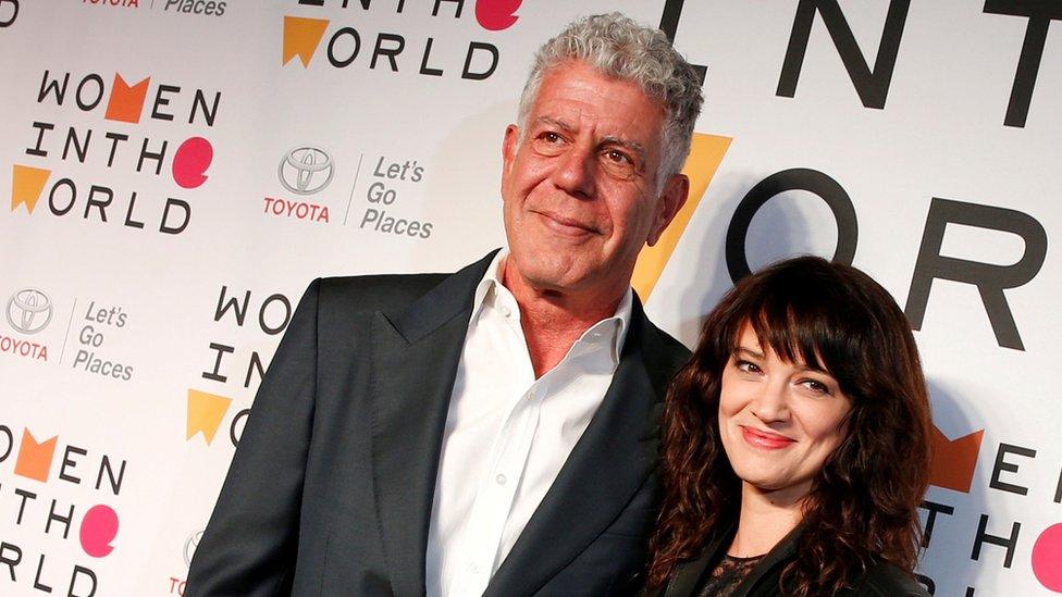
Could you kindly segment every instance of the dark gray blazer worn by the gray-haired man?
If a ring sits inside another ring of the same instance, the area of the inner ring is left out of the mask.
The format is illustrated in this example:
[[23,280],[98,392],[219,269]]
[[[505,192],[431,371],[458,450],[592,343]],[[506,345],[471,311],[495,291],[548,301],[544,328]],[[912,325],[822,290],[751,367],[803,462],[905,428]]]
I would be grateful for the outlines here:
[[[185,595],[422,595],[440,445],[472,295],[456,274],[318,279],[262,381]],[[656,423],[689,351],[635,300],[605,399],[486,589],[631,592]]]

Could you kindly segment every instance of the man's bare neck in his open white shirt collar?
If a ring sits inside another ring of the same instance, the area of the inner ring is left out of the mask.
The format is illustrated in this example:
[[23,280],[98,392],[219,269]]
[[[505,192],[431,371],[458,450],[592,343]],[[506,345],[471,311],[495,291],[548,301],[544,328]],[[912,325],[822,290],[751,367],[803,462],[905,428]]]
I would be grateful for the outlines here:
[[535,378],[556,366],[592,325],[615,315],[627,291],[622,288],[580,294],[539,289],[519,275],[505,273],[502,284],[520,307],[520,325]]

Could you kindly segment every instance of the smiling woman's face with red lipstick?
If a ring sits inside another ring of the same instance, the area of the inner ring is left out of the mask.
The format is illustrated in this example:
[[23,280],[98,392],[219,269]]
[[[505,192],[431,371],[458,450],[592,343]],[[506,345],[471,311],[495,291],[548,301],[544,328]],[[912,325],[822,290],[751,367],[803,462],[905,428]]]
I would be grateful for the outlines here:
[[776,503],[798,502],[843,440],[851,411],[837,380],[764,350],[744,326],[723,371],[719,432],[746,488],[770,493]]

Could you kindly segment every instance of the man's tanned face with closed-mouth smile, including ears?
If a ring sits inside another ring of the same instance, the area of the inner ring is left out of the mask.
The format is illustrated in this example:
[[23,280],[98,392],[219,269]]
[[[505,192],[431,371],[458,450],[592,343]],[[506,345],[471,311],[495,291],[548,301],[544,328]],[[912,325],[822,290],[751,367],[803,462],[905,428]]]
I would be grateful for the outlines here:
[[664,108],[633,83],[577,61],[548,71],[526,130],[505,132],[506,275],[539,290],[625,291],[689,187],[674,175],[656,191],[663,123]]

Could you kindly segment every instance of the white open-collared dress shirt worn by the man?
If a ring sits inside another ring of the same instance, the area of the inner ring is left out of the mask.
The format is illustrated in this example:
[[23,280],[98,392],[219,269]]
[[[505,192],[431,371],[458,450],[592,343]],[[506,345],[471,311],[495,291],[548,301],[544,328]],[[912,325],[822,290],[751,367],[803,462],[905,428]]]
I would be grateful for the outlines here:
[[[628,289],[534,378],[501,251],[477,286],[446,413],[428,533],[429,597],[482,595],[597,411],[630,321]],[[410,413],[416,415],[416,413]]]

